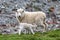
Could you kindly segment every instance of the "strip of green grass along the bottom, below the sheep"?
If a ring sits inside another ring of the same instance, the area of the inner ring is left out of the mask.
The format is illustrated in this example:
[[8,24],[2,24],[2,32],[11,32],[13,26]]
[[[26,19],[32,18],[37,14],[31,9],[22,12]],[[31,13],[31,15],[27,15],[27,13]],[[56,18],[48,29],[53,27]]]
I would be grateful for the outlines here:
[[0,34],[0,40],[60,40],[60,29],[36,34]]

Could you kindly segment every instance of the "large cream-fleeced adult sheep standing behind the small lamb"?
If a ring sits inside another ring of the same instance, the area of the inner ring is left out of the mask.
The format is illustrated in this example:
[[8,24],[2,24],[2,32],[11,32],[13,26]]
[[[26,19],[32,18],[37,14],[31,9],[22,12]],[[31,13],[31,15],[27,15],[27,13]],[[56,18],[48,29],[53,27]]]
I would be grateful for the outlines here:
[[45,21],[46,14],[44,12],[42,11],[27,12],[20,8],[17,10],[16,15],[18,15],[18,19],[21,23],[30,23],[36,24],[38,26],[43,26],[44,27],[43,32],[46,31],[47,23]]

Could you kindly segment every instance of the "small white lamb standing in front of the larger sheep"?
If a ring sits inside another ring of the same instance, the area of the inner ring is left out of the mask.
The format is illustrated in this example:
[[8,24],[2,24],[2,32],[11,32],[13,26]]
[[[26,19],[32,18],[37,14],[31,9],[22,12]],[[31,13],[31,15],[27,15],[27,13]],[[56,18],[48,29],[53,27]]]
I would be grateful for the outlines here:
[[32,32],[32,34],[35,34],[32,27],[37,27],[36,24],[28,24],[28,23],[19,23],[19,26],[18,26],[18,33],[19,35],[21,34],[21,31],[24,29],[24,28],[29,28],[30,31]]

